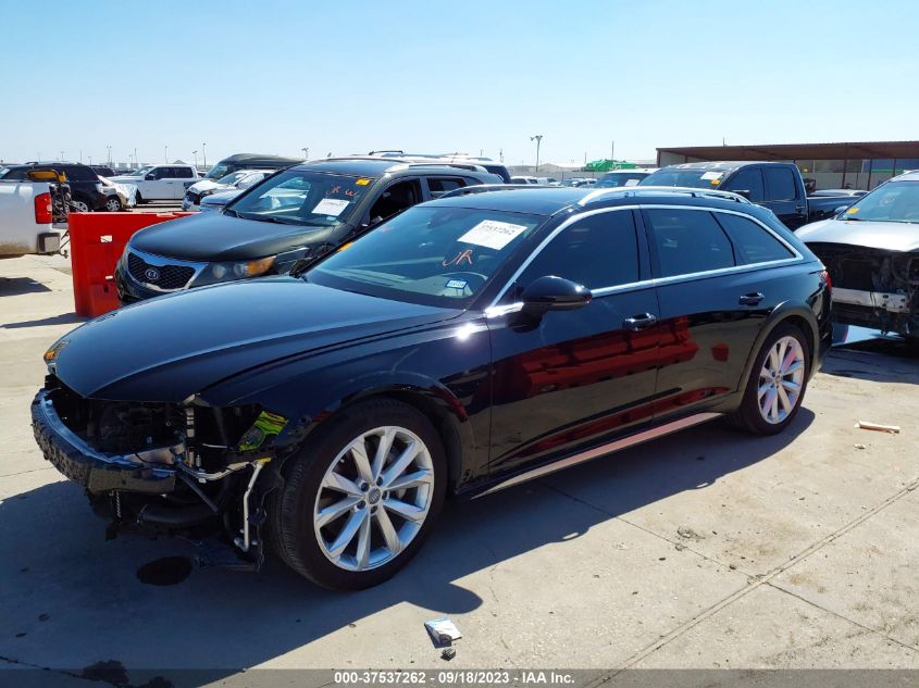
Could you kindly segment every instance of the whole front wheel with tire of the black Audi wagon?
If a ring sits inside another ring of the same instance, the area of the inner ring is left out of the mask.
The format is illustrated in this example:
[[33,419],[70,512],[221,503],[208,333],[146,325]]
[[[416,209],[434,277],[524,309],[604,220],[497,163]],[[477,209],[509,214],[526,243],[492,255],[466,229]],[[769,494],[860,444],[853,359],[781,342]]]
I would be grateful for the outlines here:
[[446,458],[431,422],[396,400],[361,402],[326,423],[285,466],[272,539],[313,583],[360,590],[421,548],[443,506]]

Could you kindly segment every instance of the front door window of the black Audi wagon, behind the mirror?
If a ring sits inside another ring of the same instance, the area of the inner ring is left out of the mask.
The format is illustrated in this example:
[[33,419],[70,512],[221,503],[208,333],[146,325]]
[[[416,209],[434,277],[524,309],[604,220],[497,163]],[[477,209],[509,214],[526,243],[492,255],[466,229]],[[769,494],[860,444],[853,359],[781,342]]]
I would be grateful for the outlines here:
[[638,282],[638,238],[632,211],[597,213],[572,223],[526,266],[519,286],[525,288],[546,275],[588,289]]

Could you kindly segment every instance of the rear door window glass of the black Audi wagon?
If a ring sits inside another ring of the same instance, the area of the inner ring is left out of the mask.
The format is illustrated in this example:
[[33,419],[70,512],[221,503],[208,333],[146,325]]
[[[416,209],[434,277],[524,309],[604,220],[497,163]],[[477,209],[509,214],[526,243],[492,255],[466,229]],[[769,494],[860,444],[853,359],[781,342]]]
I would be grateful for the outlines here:
[[660,276],[733,267],[731,241],[711,213],[700,210],[646,210],[660,262]]

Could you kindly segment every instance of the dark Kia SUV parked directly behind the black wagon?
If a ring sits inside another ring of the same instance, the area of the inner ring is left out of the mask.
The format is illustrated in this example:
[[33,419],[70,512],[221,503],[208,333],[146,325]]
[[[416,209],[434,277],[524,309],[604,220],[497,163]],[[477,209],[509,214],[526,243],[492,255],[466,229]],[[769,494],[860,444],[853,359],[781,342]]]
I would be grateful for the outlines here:
[[500,177],[471,165],[380,158],[320,160],[280,172],[223,212],[135,234],[115,268],[123,303],[288,271],[406,208]]

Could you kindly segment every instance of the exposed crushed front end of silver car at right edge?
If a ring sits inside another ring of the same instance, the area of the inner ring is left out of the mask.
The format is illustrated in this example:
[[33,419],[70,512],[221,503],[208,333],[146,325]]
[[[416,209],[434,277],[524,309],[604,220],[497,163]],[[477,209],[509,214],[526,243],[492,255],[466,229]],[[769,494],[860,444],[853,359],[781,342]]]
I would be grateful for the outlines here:
[[919,254],[808,242],[833,283],[833,320],[919,337]]

